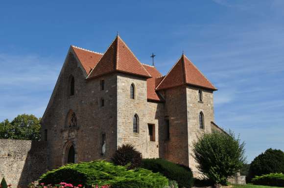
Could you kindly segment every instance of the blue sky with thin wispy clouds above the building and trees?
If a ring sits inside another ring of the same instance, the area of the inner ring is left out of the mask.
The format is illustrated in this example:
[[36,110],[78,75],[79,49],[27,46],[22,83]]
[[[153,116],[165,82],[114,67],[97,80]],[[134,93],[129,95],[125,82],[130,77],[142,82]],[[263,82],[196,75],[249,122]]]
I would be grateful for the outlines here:
[[0,121],[41,117],[71,44],[104,52],[117,31],[163,73],[182,50],[219,89],[215,123],[247,161],[284,150],[284,0],[0,2]]

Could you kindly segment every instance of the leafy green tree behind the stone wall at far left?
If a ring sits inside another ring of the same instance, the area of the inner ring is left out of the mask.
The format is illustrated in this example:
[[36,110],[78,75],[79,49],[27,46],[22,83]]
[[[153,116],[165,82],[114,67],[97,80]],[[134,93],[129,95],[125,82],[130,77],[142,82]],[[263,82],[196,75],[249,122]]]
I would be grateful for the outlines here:
[[18,140],[40,140],[41,118],[34,115],[18,115],[12,122],[0,123],[0,138]]

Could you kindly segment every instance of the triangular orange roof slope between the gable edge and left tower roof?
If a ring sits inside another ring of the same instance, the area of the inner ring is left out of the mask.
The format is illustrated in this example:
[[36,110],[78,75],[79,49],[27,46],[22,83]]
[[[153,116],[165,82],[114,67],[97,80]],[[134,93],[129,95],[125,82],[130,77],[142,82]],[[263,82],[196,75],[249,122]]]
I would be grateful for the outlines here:
[[71,45],[71,49],[74,51],[78,60],[85,69],[87,75],[90,73],[90,71],[94,68],[94,66],[98,63],[98,61],[103,55],[101,53],[93,52],[73,45]]

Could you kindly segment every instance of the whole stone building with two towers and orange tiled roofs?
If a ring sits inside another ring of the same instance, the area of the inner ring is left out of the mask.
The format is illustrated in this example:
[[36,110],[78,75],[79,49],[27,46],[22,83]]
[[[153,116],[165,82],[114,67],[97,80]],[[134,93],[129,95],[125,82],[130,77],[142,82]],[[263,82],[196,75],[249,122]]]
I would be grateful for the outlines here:
[[134,145],[143,158],[189,166],[196,136],[213,129],[209,80],[183,54],[163,76],[117,36],[104,54],[71,46],[42,118],[48,169],[109,159]]

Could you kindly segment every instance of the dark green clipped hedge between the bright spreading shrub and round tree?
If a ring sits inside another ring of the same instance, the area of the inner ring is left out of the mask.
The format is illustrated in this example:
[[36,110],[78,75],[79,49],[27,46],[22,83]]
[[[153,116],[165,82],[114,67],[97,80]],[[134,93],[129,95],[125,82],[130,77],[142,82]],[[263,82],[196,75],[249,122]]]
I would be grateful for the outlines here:
[[179,188],[191,188],[193,185],[193,176],[189,167],[164,159],[142,159],[142,168],[160,172],[168,179],[175,180]]

